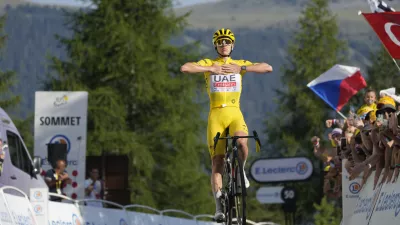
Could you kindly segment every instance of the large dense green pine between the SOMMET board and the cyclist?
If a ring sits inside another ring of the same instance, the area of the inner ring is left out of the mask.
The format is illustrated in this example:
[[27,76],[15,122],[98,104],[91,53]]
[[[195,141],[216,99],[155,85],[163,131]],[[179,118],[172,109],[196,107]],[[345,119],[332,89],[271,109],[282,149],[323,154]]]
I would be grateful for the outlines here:
[[203,81],[179,71],[196,48],[169,44],[186,17],[175,16],[167,0],[93,4],[70,14],[74,35],[60,37],[69,60],[52,59],[47,87],[89,91],[89,153],[130,156],[132,203],[213,213],[201,165],[205,122],[194,102]]

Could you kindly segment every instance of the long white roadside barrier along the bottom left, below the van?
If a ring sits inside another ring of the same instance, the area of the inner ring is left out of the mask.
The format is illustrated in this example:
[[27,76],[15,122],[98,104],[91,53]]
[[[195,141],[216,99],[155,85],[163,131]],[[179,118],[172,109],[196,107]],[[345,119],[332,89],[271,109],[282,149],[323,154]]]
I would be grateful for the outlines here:
[[[4,190],[8,190],[6,193]],[[14,187],[0,188],[0,225],[217,225],[212,221],[200,221],[200,218],[213,218],[212,215],[194,216],[177,209],[157,210],[143,205],[122,206],[104,200],[73,200],[64,195],[48,193],[45,189],[32,189],[31,200],[19,189]],[[49,196],[60,197],[63,202],[47,201]],[[101,201],[121,209],[102,208],[81,205],[87,201]],[[44,204],[46,203],[46,204]],[[36,206],[37,210],[33,209]],[[40,206],[40,207],[39,207]],[[157,214],[128,211],[142,208]],[[167,213],[180,213],[188,218],[167,216]],[[46,214],[43,217],[43,214]],[[40,218],[40,219],[39,219]],[[41,221],[40,223],[38,221]],[[255,223],[252,225],[276,225],[275,223]]]

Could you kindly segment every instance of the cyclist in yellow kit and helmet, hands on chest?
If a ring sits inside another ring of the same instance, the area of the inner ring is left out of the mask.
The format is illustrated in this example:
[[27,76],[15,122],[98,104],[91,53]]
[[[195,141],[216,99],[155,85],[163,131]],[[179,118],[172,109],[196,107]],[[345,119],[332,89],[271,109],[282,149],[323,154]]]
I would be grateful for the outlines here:
[[[230,29],[219,29],[214,33],[212,43],[219,57],[216,59],[202,59],[185,63],[181,67],[183,73],[204,73],[206,88],[210,98],[210,112],[208,115],[207,142],[212,159],[211,186],[215,198],[216,213],[214,219],[218,222],[225,220],[221,207],[222,173],[224,163],[224,144],[217,144],[214,152],[213,138],[217,132],[221,137],[226,136],[225,129],[229,127],[231,136],[246,136],[247,125],[240,110],[240,94],[242,91],[242,77],[246,72],[272,72],[267,63],[252,63],[247,60],[234,60],[230,57],[235,46],[235,35]],[[224,143],[224,142],[223,142]],[[246,163],[248,148],[247,139],[239,139],[239,157]],[[245,176],[246,188],[250,186]]]

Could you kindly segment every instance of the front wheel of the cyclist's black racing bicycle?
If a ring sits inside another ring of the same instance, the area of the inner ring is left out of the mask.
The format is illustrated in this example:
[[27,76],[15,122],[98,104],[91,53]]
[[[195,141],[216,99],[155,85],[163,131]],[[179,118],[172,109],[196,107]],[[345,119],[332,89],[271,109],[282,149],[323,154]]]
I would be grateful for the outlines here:
[[234,157],[232,162],[233,174],[233,198],[231,204],[231,215],[235,215],[233,224],[246,225],[246,186],[244,183],[244,171],[242,161]]

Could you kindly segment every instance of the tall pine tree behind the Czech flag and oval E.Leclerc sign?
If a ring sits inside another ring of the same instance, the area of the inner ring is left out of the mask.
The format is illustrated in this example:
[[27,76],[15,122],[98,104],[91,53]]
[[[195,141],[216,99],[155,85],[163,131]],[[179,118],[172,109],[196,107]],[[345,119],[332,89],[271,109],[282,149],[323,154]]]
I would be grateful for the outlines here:
[[307,87],[307,83],[346,59],[346,44],[338,38],[336,17],[328,0],[310,0],[298,20],[299,29],[289,46],[289,63],[283,68],[285,90],[278,90],[278,110],[267,121],[270,156],[307,156],[314,161],[314,177],[296,185],[298,219],[309,218],[321,194],[322,170],[312,154],[310,139],[325,133],[324,121],[332,109]]

